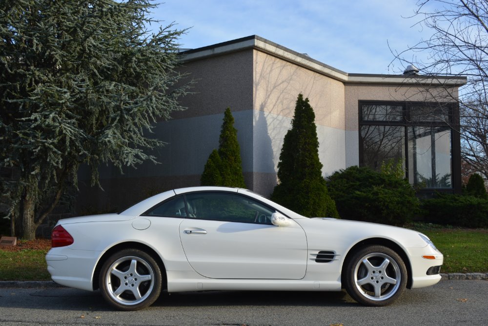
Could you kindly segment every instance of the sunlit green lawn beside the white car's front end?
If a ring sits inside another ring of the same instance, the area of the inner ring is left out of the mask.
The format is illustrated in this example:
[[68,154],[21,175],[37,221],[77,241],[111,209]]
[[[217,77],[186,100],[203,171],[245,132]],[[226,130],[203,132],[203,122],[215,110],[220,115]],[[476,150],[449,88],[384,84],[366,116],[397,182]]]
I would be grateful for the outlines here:
[[444,255],[441,273],[488,272],[488,230],[414,224]]

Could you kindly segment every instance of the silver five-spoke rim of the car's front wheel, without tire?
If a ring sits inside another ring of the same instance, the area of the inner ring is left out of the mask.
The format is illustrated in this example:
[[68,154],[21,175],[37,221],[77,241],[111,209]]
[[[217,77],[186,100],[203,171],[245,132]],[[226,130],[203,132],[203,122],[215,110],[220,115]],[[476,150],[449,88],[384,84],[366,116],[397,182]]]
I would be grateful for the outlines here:
[[354,269],[354,285],[362,296],[372,301],[392,297],[401,281],[402,273],[398,263],[381,252],[367,254]]

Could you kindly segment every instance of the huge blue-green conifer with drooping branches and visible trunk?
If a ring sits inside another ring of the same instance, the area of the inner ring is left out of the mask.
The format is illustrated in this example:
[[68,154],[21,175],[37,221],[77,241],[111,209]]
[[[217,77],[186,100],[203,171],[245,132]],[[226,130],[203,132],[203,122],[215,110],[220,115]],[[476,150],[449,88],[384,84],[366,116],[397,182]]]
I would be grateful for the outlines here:
[[[8,5],[6,4],[8,3]],[[80,164],[134,166],[163,145],[145,135],[181,110],[178,37],[154,33],[151,0],[16,0],[0,6],[0,168],[16,234],[29,240],[76,186]],[[181,84],[180,84],[181,85]]]

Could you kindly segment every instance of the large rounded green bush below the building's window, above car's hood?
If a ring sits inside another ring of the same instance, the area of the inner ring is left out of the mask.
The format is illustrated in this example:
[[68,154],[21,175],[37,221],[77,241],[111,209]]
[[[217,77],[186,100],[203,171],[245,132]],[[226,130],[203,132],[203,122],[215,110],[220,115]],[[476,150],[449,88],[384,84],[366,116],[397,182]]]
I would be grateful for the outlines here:
[[407,180],[394,173],[351,166],[329,177],[327,188],[343,219],[403,225],[418,212],[419,200]]

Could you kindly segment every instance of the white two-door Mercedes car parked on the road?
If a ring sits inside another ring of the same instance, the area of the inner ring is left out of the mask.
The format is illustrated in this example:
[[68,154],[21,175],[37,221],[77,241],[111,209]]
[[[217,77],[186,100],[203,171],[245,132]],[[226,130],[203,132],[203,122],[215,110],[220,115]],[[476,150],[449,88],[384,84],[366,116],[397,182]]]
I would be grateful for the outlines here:
[[46,255],[52,279],[122,310],[168,292],[340,291],[386,306],[439,282],[443,255],[424,234],[306,218],[242,188],[193,187],[119,214],[60,220]]

